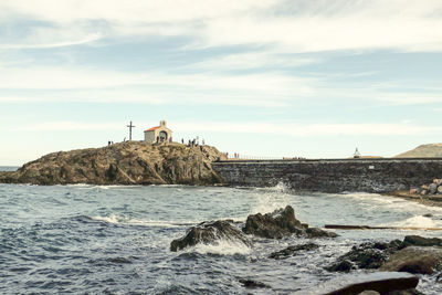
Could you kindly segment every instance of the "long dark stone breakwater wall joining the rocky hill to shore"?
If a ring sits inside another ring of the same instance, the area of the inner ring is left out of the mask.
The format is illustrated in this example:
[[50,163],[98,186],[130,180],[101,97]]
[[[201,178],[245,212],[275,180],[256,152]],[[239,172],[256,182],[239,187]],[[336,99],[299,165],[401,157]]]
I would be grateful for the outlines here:
[[212,162],[227,185],[343,192],[404,190],[442,178],[442,158],[244,160]]

